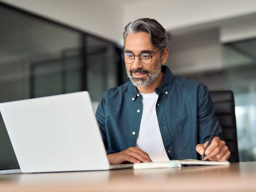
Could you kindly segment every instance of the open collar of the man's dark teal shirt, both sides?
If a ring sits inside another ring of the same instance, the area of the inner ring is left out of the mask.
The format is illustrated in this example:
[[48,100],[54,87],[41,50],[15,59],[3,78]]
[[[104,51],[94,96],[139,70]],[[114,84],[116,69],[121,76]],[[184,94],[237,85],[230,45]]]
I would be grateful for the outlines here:
[[[169,90],[171,89],[172,86],[172,81],[173,81],[173,74],[169,67],[166,65],[161,66],[161,71],[164,73],[163,76],[163,81],[162,84],[156,88],[155,92],[159,95],[160,93],[163,93],[163,95],[168,96]],[[135,87],[132,82],[129,82],[129,88],[128,91],[130,92],[131,95],[131,101],[135,101],[138,97],[142,96],[140,95],[139,91],[137,90],[137,87]]]

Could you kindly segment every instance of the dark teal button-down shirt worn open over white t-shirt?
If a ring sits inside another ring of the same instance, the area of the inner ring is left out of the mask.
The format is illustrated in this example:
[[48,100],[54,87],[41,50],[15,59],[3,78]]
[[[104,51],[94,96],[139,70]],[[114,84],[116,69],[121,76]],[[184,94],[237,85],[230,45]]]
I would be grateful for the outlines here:
[[[162,72],[162,84],[155,92],[166,154],[170,160],[199,159],[195,146],[207,142],[217,121],[209,90],[204,84],[174,76],[166,66]],[[96,119],[107,154],[136,146],[142,113],[142,96],[131,81],[103,93]],[[221,134],[219,126],[215,135],[221,138]]]

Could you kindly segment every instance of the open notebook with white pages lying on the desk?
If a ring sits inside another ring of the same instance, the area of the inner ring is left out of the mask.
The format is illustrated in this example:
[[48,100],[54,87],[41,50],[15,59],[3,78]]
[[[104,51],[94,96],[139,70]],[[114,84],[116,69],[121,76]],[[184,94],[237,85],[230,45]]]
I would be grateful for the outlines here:
[[230,165],[230,162],[224,161],[203,161],[195,159],[170,160],[160,163],[134,163],[134,169],[156,169],[156,168],[175,168],[182,165]]

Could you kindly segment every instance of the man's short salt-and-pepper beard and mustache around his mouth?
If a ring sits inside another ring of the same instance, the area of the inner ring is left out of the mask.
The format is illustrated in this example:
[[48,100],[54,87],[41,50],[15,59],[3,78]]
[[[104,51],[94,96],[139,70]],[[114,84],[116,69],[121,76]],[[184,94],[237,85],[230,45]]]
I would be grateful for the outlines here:
[[[148,70],[143,70],[143,68],[138,68],[136,70],[130,69],[130,71],[126,69],[126,73],[135,87],[145,87],[151,84],[155,79],[157,79],[157,77],[161,73],[161,63],[159,61],[155,70],[152,72],[149,72]],[[132,73],[147,73],[147,76],[145,78],[137,78],[132,76]]]

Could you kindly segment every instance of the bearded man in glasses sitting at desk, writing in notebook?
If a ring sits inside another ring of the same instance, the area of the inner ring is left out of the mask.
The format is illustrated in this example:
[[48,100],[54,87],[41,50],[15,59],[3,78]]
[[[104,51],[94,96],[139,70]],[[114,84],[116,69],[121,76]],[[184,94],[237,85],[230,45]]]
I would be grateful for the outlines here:
[[[169,39],[156,20],[128,23],[123,40],[131,81],[107,90],[96,111],[109,162],[200,159],[217,121],[209,90],[162,66]],[[219,126],[204,160],[230,157],[221,134]]]

